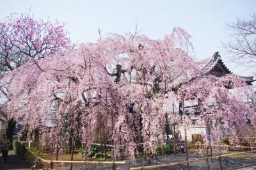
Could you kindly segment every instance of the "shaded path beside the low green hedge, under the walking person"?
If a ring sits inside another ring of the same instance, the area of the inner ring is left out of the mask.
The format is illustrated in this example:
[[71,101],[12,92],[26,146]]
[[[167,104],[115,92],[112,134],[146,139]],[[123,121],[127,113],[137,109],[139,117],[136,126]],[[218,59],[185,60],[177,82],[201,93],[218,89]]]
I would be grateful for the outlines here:
[[25,160],[22,160],[18,155],[13,153],[13,151],[9,151],[8,154],[8,162],[3,162],[3,157],[1,154],[0,157],[0,169],[1,170],[26,170],[30,169],[30,167],[26,164]]

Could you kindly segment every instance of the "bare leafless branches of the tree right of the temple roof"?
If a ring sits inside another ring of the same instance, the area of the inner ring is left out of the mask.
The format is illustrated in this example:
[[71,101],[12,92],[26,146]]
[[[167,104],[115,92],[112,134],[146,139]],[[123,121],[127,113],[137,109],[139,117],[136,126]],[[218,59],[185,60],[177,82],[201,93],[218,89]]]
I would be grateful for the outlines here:
[[256,63],[256,15],[250,19],[237,19],[227,25],[232,40],[224,43],[225,49],[232,54],[234,62],[244,66],[255,67]]

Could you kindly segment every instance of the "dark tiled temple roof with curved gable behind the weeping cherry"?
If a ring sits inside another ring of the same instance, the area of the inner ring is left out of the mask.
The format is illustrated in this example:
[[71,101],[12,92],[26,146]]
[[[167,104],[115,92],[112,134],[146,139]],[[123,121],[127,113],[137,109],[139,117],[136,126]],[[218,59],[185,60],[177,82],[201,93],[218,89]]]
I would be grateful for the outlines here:
[[[216,77],[222,77],[227,73],[232,73],[221,59],[219,52],[215,52],[213,56],[198,61],[201,66],[203,75],[215,75]],[[241,76],[243,77],[243,76]],[[253,76],[243,77],[248,85],[252,85]]]

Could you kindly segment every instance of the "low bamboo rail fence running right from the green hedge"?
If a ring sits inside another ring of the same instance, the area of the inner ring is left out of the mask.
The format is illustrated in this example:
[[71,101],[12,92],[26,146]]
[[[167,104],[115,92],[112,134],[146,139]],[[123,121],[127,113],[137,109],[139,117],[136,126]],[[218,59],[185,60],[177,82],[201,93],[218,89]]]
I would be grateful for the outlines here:
[[[45,160],[44,158],[40,158],[33,151],[29,150],[36,158],[36,162],[38,161],[38,168],[41,168],[42,162],[49,164],[50,168],[53,169],[54,163],[70,163],[70,164],[112,164],[112,169],[116,170],[116,164],[125,164],[125,161],[75,161],[75,160]],[[35,167],[36,168],[36,167]]]

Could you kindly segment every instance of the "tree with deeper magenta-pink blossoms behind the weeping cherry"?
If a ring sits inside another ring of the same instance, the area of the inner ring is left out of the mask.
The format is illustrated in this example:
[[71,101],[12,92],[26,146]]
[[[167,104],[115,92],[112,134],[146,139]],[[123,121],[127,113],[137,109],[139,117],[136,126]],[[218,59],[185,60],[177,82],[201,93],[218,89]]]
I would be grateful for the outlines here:
[[61,54],[71,47],[63,23],[36,20],[23,13],[12,13],[4,22],[0,22],[1,74],[34,59]]

